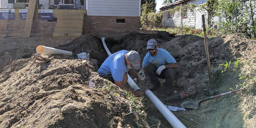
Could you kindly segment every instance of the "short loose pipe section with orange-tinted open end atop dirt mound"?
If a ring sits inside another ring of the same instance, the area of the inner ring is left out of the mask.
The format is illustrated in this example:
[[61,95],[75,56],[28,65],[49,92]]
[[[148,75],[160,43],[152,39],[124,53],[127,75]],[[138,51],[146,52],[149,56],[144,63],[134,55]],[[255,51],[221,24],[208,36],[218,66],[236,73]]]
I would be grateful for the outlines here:
[[50,54],[50,55],[59,55],[59,54],[68,55],[68,56],[73,55],[73,53],[70,51],[60,50],[52,47],[45,47],[42,45],[38,45],[36,48],[36,51],[37,53]]

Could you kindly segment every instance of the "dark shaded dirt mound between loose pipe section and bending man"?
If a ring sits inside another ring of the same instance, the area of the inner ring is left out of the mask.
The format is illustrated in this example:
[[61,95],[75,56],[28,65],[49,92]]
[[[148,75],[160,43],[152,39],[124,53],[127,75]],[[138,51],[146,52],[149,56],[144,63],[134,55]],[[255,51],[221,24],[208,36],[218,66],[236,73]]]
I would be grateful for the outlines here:
[[99,67],[105,61],[106,57],[108,57],[101,40],[89,34],[84,34],[68,44],[57,47],[57,49],[72,51],[72,57],[74,58],[77,58],[77,54],[81,52],[90,53],[92,59],[97,59]]

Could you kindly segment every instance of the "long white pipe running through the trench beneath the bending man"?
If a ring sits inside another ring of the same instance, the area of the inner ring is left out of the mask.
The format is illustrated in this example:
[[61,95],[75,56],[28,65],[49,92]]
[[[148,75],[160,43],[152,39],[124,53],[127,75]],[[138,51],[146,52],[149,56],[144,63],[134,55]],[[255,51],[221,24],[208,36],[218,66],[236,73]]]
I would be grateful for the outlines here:
[[[101,38],[102,44],[108,54],[111,55],[111,52],[106,46],[105,37]],[[137,84],[131,79],[128,75],[127,83],[133,90],[141,90]],[[149,89],[145,90],[145,95],[149,98],[149,100],[155,105],[155,107],[160,111],[160,113],[165,117],[165,119],[170,123],[173,128],[186,128],[180,120],[169,110],[167,107],[154,95],[152,91]]]

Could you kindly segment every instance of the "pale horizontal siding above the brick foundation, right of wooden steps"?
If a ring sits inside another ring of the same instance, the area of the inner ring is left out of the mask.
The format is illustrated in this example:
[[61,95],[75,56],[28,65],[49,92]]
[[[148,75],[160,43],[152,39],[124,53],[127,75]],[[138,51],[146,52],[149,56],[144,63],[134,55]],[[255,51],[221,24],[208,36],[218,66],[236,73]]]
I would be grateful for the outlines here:
[[89,16],[140,16],[139,0],[88,0]]

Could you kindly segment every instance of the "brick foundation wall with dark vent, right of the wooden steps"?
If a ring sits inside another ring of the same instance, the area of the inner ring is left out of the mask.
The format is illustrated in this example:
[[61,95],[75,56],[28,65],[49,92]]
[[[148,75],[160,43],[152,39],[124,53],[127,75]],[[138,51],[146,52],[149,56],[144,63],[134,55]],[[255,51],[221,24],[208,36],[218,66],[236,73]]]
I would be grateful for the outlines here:
[[[120,39],[132,31],[140,29],[140,17],[84,16],[83,34],[96,37]],[[125,23],[116,23],[116,19],[125,19]]]

